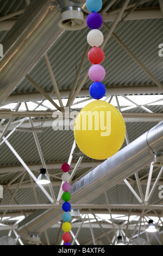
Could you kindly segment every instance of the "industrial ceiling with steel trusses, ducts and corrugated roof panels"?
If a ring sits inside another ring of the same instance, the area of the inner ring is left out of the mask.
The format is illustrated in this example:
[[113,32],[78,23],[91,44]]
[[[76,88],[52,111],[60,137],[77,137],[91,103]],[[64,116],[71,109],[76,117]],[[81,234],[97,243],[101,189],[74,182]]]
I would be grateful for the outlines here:
[[[72,20],[59,27],[67,3],[83,9],[84,28]],[[77,113],[93,101],[85,1],[0,0],[0,238],[16,245],[62,245],[64,162],[78,214],[72,244],[115,245],[121,235],[126,245],[138,237],[162,245],[163,2],[103,0],[99,13],[102,100],[122,113],[127,130],[122,149],[105,161],[73,156],[69,116],[54,122],[64,108]],[[50,185],[36,184],[42,166]],[[151,218],[157,233],[148,235]]]

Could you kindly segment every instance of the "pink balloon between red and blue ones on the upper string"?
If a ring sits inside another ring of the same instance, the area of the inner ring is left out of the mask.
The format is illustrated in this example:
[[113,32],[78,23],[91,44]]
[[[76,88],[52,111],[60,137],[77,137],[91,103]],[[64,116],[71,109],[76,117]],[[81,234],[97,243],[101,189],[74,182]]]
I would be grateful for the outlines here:
[[89,70],[89,77],[94,82],[101,82],[105,77],[105,69],[103,66],[95,64]]

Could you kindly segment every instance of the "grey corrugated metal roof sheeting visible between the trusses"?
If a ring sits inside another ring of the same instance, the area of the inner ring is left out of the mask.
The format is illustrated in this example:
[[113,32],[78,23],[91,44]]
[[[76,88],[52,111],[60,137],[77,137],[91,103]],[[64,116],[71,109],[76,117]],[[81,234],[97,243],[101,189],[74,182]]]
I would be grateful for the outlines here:
[[[130,3],[134,3],[132,0]],[[108,1],[103,1],[103,7],[108,3]],[[122,1],[117,0],[114,5],[112,5],[111,10],[120,8]],[[26,7],[26,1],[0,1],[0,16],[12,13],[18,9],[23,9]],[[140,5],[140,8],[158,8],[158,1],[149,1]],[[158,56],[158,45],[162,40],[162,19],[155,20],[137,20],[137,21],[123,21],[121,25],[117,27],[116,34],[124,42],[124,44],[129,47],[129,49],[136,55],[137,58],[148,68],[150,72],[160,81],[163,82],[162,76],[162,59]],[[107,22],[108,26],[111,26],[111,22]],[[104,36],[107,31],[104,27],[101,28]],[[52,65],[54,76],[56,78],[59,89],[71,89],[74,82],[74,78],[77,74],[80,61],[82,59],[85,47],[86,47],[86,35],[89,32],[88,28],[82,29],[82,31],[65,31],[55,44],[49,49],[48,57]],[[0,32],[0,42],[3,39],[7,32]],[[114,38],[110,38],[108,44],[104,48],[105,60],[103,66],[106,71],[105,80],[103,83],[107,88],[115,86],[148,86],[153,85],[154,82],[151,78],[145,74],[144,71],[134,62],[134,60],[123,50],[123,48],[118,45]],[[87,59],[85,60],[85,65],[78,81],[78,84],[82,80],[85,72],[89,66]],[[33,78],[35,82],[41,86],[46,92],[51,92],[53,90],[51,79],[48,75],[47,67],[43,58],[37,63],[34,68],[29,72],[29,75]],[[90,80],[87,78],[83,88],[89,88]],[[36,89],[30,84],[26,78],[17,86],[13,94],[21,93],[32,93],[36,92]],[[147,91],[148,93],[148,91]],[[162,106],[149,106],[149,109],[153,112],[162,112]],[[129,112],[144,112],[141,108],[135,108]],[[127,132],[129,136],[129,141],[134,141],[137,137],[142,135],[144,132],[151,129],[155,122],[139,122],[139,123],[127,123]],[[8,133],[7,133],[8,134]],[[62,162],[67,161],[70,155],[71,147],[73,144],[73,132],[72,131],[54,131],[52,127],[44,128],[43,133],[38,134],[39,142],[43,151],[43,156],[45,162]],[[34,137],[32,133],[20,133],[14,132],[10,138],[9,142],[12,147],[14,147],[18,154],[22,157],[23,161],[27,164],[30,163],[40,163],[40,157],[37,152],[36,144],[34,142]],[[124,142],[123,147],[126,145]],[[3,143],[0,147],[0,166],[12,166],[18,165],[20,162],[12,154],[11,150]],[[78,158],[73,157],[73,161],[77,161]],[[88,157],[84,157],[84,160],[90,160]],[[92,165],[93,166],[93,165]],[[77,174],[74,176],[74,179],[77,179],[80,175],[87,172],[89,168],[79,168]],[[149,168],[142,169],[139,171],[139,175],[148,176]],[[38,172],[33,171],[35,175]],[[51,169],[49,170],[50,175],[59,173],[61,176],[60,169]],[[158,171],[154,172],[153,177],[156,177]],[[1,176],[1,183],[8,184],[9,181],[16,178],[16,169],[14,173]],[[15,182],[21,180],[17,178]],[[134,179],[134,176],[130,177]],[[147,177],[146,177],[147,178]],[[23,181],[29,180],[29,175],[26,174]],[[53,178],[56,180],[56,178]],[[109,182],[109,181],[108,181]],[[58,195],[59,186],[54,186],[54,194]],[[135,188],[136,192],[139,193],[137,187]],[[146,191],[146,186],[142,186],[143,193]],[[10,190],[14,194],[14,189]],[[49,189],[47,188],[49,192]],[[127,186],[119,184],[111,190],[106,192],[108,195],[110,204],[130,204],[132,200],[132,194],[130,193]],[[36,195],[38,197],[39,203],[47,203],[47,198],[40,193],[40,189],[36,188]],[[8,204],[10,201],[11,195],[8,192],[5,192],[5,197],[2,200],[2,204]],[[32,188],[20,188],[18,187],[18,192],[15,196],[15,200],[10,202],[11,204],[34,204],[35,197]],[[99,195],[98,198],[92,200],[91,204],[105,204],[104,194]],[[137,200],[133,199],[133,204],[136,204]],[[160,203],[158,198],[158,193],[155,191],[153,194],[151,203]],[[29,209],[30,210],[30,209]],[[114,209],[112,209],[114,210]],[[121,210],[121,209],[119,209]],[[1,211],[2,212],[2,211]],[[158,211],[159,212],[159,211]],[[11,223],[10,221],[7,223]],[[118,223],[118,221],[117,221]],[[55,224],[55,223],[54,223]],[[72,228],[74,234],[77,232],[77,228]],[[105,230],[109,233],[110,239],[112,239],[114,233],[112,230]],[[104,234],[100,229],[93,228],[95,237],[101,237],[101,241],[104,245],[108,244],[108,240],[104,237]],[[132,230],[129,229],[128,236],[131,235]],[[50,228],[47,230],[49,237],[49,242],[52,245],[55,245],[57,236],[59,233],[59,228]],[[0,235],[8,235],[8,231],[0,231]],[[146,239],[145,234],[142,234],[142,237]],[[61,236],[60,236],[61,239]],[[41,234],[41,240],[43,244],[47,244],[45,233]],[[89,228],[83,228],[80,231],[78,236],[80,244],[86,244],[86,241],[89,241],[89,244],[92,245],[91,241],[91,232]],[[28,244],[28,241],[23,241],[24,244]],[[158,241],[153,239],[153,244],[158,244]]]

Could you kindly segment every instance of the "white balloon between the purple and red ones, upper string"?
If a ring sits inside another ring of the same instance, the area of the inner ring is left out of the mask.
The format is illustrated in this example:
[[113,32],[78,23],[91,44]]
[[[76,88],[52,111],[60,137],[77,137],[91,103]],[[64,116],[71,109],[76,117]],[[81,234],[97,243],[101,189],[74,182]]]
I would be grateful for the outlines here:
[[88,34],[87,34],[87,42],[89,43],[90,46],[98,47],[102,45],[104,41],[104,35],[99,29],[92,29]]

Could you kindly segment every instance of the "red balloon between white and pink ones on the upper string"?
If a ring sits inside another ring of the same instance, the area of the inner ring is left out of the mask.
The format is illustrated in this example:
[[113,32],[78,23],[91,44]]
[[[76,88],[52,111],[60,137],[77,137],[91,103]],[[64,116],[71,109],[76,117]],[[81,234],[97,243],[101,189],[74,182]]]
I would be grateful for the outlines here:
[[101,48],[94,46],[87,54],[87,57],[92,64],[100,64],[103,62],[105,54]]

